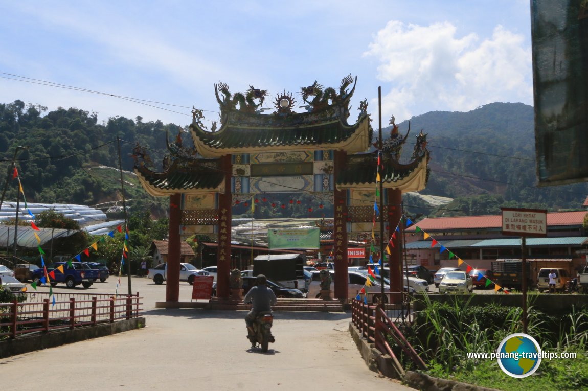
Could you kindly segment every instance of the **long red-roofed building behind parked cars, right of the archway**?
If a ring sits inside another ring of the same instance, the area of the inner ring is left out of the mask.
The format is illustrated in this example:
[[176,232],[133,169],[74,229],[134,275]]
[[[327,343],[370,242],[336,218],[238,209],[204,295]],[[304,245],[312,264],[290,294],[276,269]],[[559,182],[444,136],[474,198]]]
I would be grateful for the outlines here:
[[[547,213],[547,237],[526,239],[526,259],[535,279],[541,268],[564,268],[576,276],[587,263],[584,216],[585,210]],[[459,258],[463,268],[492,270],[492,262],[521,258],[520,238],[502,235],[502,215],[427,218],[405,232],[409,265],[437,270],[461,266]]]

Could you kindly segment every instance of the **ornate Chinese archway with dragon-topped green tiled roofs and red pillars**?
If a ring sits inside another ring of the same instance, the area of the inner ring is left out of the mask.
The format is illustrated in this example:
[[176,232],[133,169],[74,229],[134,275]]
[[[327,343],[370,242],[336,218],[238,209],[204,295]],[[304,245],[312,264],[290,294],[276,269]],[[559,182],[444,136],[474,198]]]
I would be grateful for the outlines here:
[[[136,148],[135,172],[143,188],[153,196],[169,197],[167,302],[178,301],[181,240],[201,233],[218,240],[216,292],[219,298],[229,297],[232,210],[248,202],[299,193],[320,200],[321,208],[329,206],[321,212],[332,213],[327,217],[333,219],[335,273],[346,273],[348,240],[364,240],[380,218],[385,218],[386,226],[396,227],[402,216],[402,193],[426,186],[426,135],[417,137],[410,161],[402,164],[399,157],[408,133],[400,136],[391,121],[382,153],[373,151],[378,145],[366,100],[360,102],[355,122],[348,122],[356,82],[349,75],[338,89],[317,82],[302,88],[301,107],[306,111],[300,113],[293,111],[292,93],[278,93],[272,112],[263,113],[268,110],[262,107],[267,91],[250,86],[246,93],[232,94],[220,82],[215,85],[220,126],[213,122],[207,129],[202,111],[193,109],[189,126],[193,148],[182,145],[182,132],[175,142],[168,136],[169,156],[159,172],[145,158],[144,149]],[[373,213],[376,175],[383,182],[387,203],[377,218]],[[381,240],[379,229],[376,236]],[[402,249],[395,249],[390,256],[390,290],[400,292]],[[336,298],[346,299],[347,280],[335,279],[334,290]]]

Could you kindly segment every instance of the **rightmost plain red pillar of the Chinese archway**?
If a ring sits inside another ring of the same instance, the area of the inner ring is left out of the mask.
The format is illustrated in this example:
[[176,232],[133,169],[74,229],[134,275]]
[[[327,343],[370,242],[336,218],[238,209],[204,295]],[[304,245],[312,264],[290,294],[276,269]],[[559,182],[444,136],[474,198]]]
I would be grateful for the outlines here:
[[[391,236],[396,229],[396,225],[402,217],[402,191],[399,189],[388,189],[388,226],[389,235]],[[398,226],[400,232],[396,233],[394,240],[395,247],[390,255],[390,292],[402,292],[402,235],[404,232],[403,224]],[[388,238],[389,239],[389,238]],[[395,303],[402,303],[401,295],[392,295],[392,301]]]

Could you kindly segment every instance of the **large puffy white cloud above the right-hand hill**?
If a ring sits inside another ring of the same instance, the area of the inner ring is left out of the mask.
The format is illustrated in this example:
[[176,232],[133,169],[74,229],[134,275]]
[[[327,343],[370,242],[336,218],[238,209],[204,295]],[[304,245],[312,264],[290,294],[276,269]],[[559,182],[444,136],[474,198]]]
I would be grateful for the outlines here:
[[469,111],[495,101],[532,104],[530,47],[524,47],[522,35],[502,26],[480,40],[473,33],[457,37],[449,22],[390,21],[364,56],[380,61],[377,77],[390,82],[383,112],[400,120],[428,111]]

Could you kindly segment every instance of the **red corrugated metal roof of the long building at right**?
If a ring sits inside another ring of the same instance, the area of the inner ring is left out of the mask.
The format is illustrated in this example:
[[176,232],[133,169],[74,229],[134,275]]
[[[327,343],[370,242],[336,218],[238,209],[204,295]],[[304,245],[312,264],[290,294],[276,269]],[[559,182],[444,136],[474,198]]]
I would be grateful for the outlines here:
[[[550,212],[547,213],[547,226],[581,226],[584,223],[584,216],[586,216],[586,210],[576,212]],[[424,231],[475,228],[502,229],[502,215],[427,218],[420,220],[406,230],[414,231],[416,226]]]

